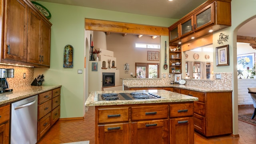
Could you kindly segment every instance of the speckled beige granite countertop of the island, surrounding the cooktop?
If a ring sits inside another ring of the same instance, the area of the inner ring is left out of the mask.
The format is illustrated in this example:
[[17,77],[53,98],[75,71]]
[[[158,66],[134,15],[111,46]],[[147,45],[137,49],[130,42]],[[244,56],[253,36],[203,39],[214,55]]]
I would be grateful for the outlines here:
[[[158,94],[162,98],[159,99],[139,99],[139,100],[110,100],[98,101],[98,94],[103,93],[130,93],[130,92],[144,92],[148,94]],[[116,90],[116,91],[94,91],[91,92],[85,102],[85,106],[111,106],[111,105],[124,105],[124,104],[152,104],[152,103],[169,103],[169,102],[190,102],[198,101],[198,98],[168,90]]]

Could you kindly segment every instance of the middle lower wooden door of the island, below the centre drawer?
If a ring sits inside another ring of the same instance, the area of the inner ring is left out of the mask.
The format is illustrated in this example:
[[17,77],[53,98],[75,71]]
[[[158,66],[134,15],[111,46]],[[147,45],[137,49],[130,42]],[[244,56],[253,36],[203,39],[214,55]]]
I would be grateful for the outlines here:
[[131,144],[169,144],[168,120],[132,122]]

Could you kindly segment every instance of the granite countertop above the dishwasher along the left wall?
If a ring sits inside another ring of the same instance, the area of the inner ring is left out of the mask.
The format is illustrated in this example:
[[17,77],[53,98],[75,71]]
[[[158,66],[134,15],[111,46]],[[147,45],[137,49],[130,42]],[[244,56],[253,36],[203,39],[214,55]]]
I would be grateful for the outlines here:
[[12,92],[4,92],[0,94],[0,105],[10,102],[15,102],[30,96],[40,94],[55,88],[60,88],[61,85],[53,86],[24,86],[20,88],[14,88]]

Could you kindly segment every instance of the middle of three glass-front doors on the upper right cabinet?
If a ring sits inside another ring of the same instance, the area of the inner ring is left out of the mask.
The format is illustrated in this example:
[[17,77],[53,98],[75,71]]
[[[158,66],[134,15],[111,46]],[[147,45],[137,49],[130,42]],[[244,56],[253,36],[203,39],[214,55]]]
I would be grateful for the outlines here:
[[180,38],[194,32],[194,17],[191,16],[180,23]]

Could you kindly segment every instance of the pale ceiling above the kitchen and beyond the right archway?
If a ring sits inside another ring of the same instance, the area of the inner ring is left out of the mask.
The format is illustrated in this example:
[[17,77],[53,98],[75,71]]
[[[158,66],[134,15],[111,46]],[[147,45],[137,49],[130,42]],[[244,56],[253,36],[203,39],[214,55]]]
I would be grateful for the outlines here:
[[[36,1],[36,0],[34,0]],[[117,12],[180,19],[207,0],[39,0]],[[237,35],[256,37],[256,18],[242,26]]]

